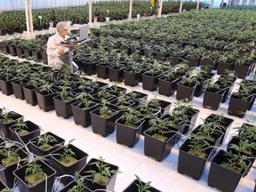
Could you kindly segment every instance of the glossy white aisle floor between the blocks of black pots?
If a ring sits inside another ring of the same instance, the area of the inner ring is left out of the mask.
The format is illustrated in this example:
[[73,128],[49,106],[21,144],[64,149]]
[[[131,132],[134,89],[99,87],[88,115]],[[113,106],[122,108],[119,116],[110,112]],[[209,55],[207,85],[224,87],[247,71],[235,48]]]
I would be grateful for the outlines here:
[[[90,78],[95,78],[96,76],[90,76]],[[108,80],[98,79],[103,82],[108,82]],[[113,84],[113,83],[109,83]],[[124,83],[121,85],[124,86]],[[124,86],[127,88],[128,92],[132,90],[132,87]],[[136,91],[146,92],[149,98],[156,95],[157,99],[168,100],[171,102],[176,101],[176,95],[171,97],[165,97],[158,94],[158,92],[148,92],[142,90],[142,85],[133,88]],[[200,98],[194,98],[191,101],[195,108],[200,109],[200,113],[196,124],[202,122],[201,118],[205,118],[215,111],[202,108],[203,95]],[[27,104],[25,100],[19,100],[14,97],[14,95],[6,96],[0,92],[0,108],[8,108],[10,110],[16,111],[21,115],[25,116],[25,120],[30,120],[35,124],[40,125],[44,132],[53,132],[66,140],[76,139],[73,144],[83,149],[89,154],[87,162],[93,158],[99,158],[102,156],[106,159],[106,162],[110,164],[116,164],[119,166],[119,173],[116,178],[115,191],[119,192],[126,188],[132,180],[135,179],[134,174],[140,176],[143,181],[152,181],[151,185],[158,188],[164,192],[205,192],[205,191],[218,191],[216,188],[211,188],[207,186],[207,178],[210,168],[210,163],[208,162],[205,166],[203,175],[200,180],[194,180],[186,175],[182,175],[177,172],[178,156],[179,156],[179,146],[182,144],[180,141],[177,145],[172,148],[172,152],[167,156],[163,162],[159,163],[151,157],[144,155],[144,138],[140,136],[140,141],[133,147],[128,148],[123,145],[116,143],[116,132],[108,135],[108,137],[103,138],[102,136],[92,132],[92,127],[84,128],[81,125],[76,125],[74,123],[73,116],[68,119],[56,116],[55,110],[50,112],[44,112],[38,106],[32,107]],[[220,105],[220,109],[224,112],[224,116],[228,116],[228,101]],[[172,110],[172,108],[171,108]],[[241,125],[248,119],[248,117],[256,117],[256,106],[253,105],[251,111],[247,112],[247,115],[243,119],[236,116],[228,116],[235,119],[232,128]],[[234,130],[228,133],[228,136],[234,133]],[[228,143],[228,138],[225,140],[222,147],[225,148],[225,144]],[[256,170],[252,166],[251,171],[247,176],[242,178],[236,188],[236,192],[250,192],[254,188],[254,180],[256,179]],[[38,191],[39,192],[39,191]]]

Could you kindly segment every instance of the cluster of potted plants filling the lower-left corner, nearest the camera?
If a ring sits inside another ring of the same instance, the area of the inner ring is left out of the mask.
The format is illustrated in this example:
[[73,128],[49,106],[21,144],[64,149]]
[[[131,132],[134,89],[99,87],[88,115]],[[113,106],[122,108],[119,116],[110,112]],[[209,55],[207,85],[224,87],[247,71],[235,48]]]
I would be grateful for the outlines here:
[[[54,177],[61,178],[61,175],[68,174],[71,177],[75,176],[74,181],[63,178],[61,182],[65,188],[62,188],[61,191],[68,191],[71,188],[76,191],[84,191],[84,189],[93,191],[100,188],[114,190],[118,172],[116,165],[106,163],[101,156],[100,159],[92,158],[86,164],[88,154],[70,144],[72,140],[63,146],[65,140],[52,132],[40,135],[38,125],[30,121],[23,121],[23,116],[18,118],[19,116],[20,114],[1,108],[1,131],[6,132],[9,126],[10,134],[7,135],[13,140],[4,139],[4,137],[1,139],[1,166],[8,188],[14,186],[15,177],[20,190],[51,191]],[[36,130],[39,134],[35,134]],[[19,137],[14,136],[12,131],[15,131],[14,134]],[[9,147],[6,148],[6,144]],[[31,159],[31,153],[34,154],[33,159]],[[47,164],[46,156],[50,156],[51,164]],[[131,188],[152,188],[149,186],[149,182],[144,183],[138,176],[136,178],[137,180],[134,180],[125,191],[132,191]],[[1,191],[7,188],[2,182],[1,184]]]

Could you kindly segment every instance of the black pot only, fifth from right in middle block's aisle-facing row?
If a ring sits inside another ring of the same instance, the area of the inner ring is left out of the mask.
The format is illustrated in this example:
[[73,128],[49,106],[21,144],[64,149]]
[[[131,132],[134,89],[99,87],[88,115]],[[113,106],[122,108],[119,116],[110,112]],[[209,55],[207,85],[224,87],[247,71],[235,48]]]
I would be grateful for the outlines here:
[[111,109],[114,113],[108,118],[104,118],[100,116],[100,108],[96,108],[91,111],[92,118],[92,132],[98,133],[103,137],[107,137],[108,134],[115,132],[115,121],[118,117],[118,112],[116,110]]

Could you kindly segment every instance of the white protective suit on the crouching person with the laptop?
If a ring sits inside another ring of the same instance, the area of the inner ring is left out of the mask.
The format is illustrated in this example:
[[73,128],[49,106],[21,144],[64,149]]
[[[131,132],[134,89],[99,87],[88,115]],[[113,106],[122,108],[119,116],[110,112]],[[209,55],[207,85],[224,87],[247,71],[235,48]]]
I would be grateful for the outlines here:
[[[65,39],[67,38],[68,36],[65,36]],[[54,36],[51,36],[47,42],[46,53],[48,56],[48,65],[50,65],[54,69],[60,69],[62,68],[62,65],[64,65],[64,63],[60,60],[60,55],[58,53],[59,50],[63,50],[63,53],[69,52],[69,49],[67,47],[56,45],[60,44],[62,41],[64,41],[64,39],[61,38],[61,36],[58,33],[56,33]],[[75,62],[73,62],[72,64],[73,72],[76,72],[78,70],[78,67]]]

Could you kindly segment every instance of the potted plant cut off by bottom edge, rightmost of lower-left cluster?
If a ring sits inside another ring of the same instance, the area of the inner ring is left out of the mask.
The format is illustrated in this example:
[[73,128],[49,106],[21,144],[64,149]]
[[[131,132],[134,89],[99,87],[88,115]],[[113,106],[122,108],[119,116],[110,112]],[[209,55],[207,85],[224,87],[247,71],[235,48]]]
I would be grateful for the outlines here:
[[140,177],[135,174],[136,180],[133,180],[132,183],[124,188],[123,192],[133,192],[133,191],[150,191],[150,192],[160,192],[158,189],[150,186],[151,181],[143,182],[140,180]]

